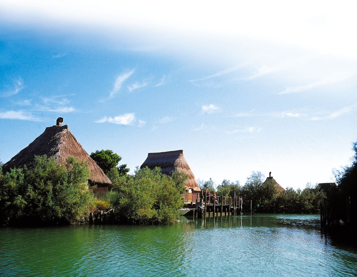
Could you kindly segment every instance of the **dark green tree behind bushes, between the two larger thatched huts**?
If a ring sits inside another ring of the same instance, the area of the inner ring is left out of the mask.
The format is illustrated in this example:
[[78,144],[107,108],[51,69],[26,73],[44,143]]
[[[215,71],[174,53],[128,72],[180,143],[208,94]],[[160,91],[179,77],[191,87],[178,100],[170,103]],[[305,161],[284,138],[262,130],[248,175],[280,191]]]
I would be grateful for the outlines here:
[[117,166],[122,158],[112,150],[96,150],[96,152],[90,154],[90,157],[104,171],[109,179],[111,179],[113,174],[114,176],[116,174],[122,176],[126,175],[130,170],[129,168],[126,168],[126,164]]

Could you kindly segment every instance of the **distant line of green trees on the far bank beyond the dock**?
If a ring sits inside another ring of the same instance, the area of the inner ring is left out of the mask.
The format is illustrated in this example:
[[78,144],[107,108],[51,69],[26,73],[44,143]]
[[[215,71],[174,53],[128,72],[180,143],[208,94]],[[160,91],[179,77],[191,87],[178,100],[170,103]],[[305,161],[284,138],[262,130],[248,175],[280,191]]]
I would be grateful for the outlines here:
[[[200,187],[213,192],[215,184],[210,179],[200,181]],[[233,197],[234,193],[243,198],[243,211],[250,211],[252,200],[252,209],[257,212],[316,213],[320,209],[320,201],[326,197],[319,187],[311,188],[311,184],[307,184],[304,190],[287,188],[278,193],[273,181],[264,183],[264,176],[259,171],[253,171],[244,186],[239,181],[233,183],[226,179],[217,186],[218,196]]]

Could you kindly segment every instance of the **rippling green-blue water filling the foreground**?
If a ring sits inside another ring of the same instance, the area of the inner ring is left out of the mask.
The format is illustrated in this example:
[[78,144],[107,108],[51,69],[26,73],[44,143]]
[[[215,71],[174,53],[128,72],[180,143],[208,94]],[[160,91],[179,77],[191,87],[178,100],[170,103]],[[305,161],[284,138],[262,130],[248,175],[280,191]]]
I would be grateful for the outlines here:
[[171,226],[0,228],[0,276],[357,276],[316,215],[181,217]]

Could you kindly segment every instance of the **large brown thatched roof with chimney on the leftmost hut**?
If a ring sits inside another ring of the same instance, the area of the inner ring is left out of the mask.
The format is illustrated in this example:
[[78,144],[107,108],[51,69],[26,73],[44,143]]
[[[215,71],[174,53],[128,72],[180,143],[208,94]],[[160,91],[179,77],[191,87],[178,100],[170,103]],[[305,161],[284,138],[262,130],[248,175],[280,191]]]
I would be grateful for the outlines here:
[[58,118],[57,125],[47,127],[45,132],[4,164],[2,169],[9,171],[10,168],[15,166],[22,168],[25,164],[32,163],[35,160],[35,155],[53,157],[59,164],[65,163],[67,157],[74,156],[77,160],[84,160],[89,165],[90,185],[107,186],[111,184],[103,170],[77,142],[74,135],[69,131],[68,125],[62,126],[62,121],[63,118]]

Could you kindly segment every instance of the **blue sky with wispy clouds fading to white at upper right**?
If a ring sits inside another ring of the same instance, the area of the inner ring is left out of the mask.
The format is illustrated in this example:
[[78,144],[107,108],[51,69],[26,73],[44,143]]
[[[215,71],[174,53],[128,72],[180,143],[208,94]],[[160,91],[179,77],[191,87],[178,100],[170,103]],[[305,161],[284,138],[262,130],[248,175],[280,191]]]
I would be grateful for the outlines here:
[[356,1],[0,0],[0,160],[63,117],[134,173],[335,181],[357,140]]

